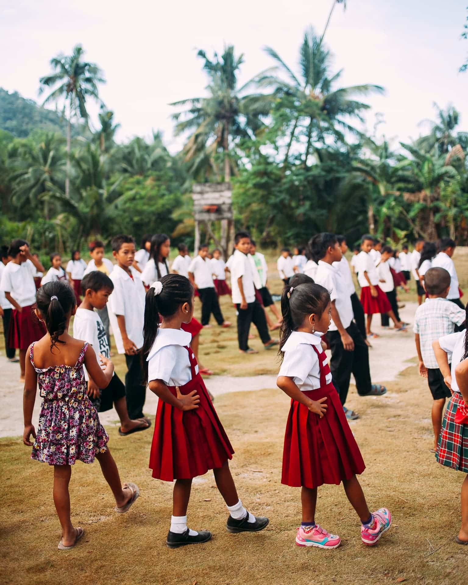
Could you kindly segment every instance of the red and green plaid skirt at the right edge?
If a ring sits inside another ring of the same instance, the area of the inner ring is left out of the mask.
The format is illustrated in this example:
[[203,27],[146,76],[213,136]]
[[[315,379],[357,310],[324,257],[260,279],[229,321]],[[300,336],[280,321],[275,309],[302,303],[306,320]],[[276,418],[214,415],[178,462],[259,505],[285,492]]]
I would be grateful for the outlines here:
[[450,398],[435,457],[441,465],[468,473],[468,425],[457,425],[455,422],[460,402],[463,402],[461,394],[456,393]]

